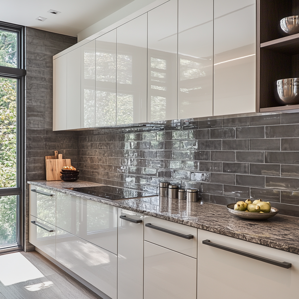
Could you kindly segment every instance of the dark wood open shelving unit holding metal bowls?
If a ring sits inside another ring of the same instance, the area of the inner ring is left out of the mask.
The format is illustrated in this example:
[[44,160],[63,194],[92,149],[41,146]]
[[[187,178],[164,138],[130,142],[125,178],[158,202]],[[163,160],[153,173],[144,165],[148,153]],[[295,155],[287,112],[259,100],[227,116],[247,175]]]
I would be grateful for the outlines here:
[[299,77],[299,33],[280,29],[281,19],[299,15],[299,0],[258,0],[257,8],[257,112],[299,109],[274,97],[276,80]]

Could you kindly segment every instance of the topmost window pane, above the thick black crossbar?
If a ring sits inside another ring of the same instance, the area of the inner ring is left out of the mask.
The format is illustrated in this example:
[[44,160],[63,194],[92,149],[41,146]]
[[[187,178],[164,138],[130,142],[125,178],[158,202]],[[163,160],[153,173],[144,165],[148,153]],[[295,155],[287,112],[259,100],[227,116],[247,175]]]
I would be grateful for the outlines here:
[[0,30],[0,65],[17,67],[17,33]]

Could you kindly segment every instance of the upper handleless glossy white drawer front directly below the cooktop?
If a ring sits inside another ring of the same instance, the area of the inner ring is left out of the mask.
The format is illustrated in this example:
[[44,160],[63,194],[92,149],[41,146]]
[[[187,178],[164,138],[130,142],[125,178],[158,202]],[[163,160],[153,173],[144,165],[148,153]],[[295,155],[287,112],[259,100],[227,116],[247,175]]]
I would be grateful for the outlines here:
[[117,208],[57,192],[57,227],[117,254]]

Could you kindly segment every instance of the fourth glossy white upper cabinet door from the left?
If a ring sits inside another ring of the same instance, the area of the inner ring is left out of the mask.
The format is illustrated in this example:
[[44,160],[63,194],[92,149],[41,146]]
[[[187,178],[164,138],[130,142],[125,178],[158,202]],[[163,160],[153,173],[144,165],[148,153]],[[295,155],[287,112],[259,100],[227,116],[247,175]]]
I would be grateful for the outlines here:
[[96,39],[95,126],[116,124],[116,29]]

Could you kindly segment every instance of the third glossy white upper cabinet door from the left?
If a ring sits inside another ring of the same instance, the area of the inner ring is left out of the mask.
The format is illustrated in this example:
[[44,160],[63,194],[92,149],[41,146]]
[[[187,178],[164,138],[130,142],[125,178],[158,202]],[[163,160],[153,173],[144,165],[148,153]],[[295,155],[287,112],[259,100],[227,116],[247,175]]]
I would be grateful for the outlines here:
[[95,126],[95,40],[81,46],[81,128]]

